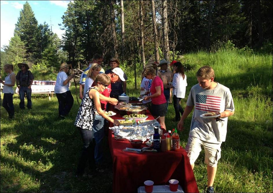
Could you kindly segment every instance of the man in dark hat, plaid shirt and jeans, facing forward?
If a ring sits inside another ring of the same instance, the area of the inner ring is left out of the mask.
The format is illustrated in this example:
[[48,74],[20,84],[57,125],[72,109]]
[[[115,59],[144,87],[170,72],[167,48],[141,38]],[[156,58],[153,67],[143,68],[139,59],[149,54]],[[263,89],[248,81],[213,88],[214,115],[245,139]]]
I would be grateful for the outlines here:
[[19,96],[20,96],[19,106],[21,109],[25,109],[25,94],[26,94],[27,108],[32,109],[31,85],[33,83],[34,77],[32,73],[28,70],[29,67],[27,63],[25,62],[19,63],[18,67],[21,69],[16,75],[16,85],[19,88]]

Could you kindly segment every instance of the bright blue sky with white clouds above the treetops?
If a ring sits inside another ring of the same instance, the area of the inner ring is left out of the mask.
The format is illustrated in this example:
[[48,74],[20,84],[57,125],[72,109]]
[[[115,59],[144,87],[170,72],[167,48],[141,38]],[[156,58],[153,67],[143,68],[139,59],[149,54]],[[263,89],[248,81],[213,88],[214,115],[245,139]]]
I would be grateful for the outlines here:
[[[23,9],[23,4],[26,1],[5,1],[1,0],[0,12],[0,31],[1,42],[0,47],[8,45],[10,38],[13,37],[15,24],[20,16],[20,11]],[[69,1],[27,1],[38,24],[46,22],[50,26],[50,19],[52,31],[61,38],[63,30],[60,29],[58,23],[62,23],[62,15],[67,10]]]

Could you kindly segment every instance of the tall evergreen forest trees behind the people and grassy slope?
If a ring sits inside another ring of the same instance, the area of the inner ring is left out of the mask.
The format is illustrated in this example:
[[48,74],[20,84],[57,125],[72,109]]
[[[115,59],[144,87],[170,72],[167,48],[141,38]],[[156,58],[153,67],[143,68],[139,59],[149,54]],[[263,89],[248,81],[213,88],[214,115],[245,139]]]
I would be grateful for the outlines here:
[[117,57],[123,70],[135,69],[128,81],[137,88],[136,75],[149,59],[179,60],[226,44],[272,53],[272,1],[73,1],[62,21],[60,39],[49,24],[38,24],[26,2],[1,51],[1,69],[10,63],[17,72],[25,61],[35,79],[54,80],[62,62],[83,69],[100,53],[104,68]]

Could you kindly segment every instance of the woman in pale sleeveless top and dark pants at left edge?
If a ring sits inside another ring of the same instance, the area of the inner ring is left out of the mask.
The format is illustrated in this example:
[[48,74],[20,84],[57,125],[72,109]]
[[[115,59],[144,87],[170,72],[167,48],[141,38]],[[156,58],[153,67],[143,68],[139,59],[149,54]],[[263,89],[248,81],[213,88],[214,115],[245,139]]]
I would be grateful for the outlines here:
[[15,77],[16,75],[13,73],[13,65],[12,64],[5,64],[4,66],[5,73],[8,75],[5,77],[5,81],[1,80],[3,86],[3,107],[7,110],[9,114],[9,118],[14,118],[14,105],[13,105],[13,86],[15,85]]

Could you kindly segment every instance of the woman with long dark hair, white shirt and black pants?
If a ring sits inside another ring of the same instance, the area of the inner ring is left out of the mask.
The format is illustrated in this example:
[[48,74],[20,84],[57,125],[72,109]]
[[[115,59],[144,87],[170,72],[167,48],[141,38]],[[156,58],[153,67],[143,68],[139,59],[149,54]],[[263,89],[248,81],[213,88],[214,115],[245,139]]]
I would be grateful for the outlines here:
[[180,100],[185,98],[186,86],[187,86],[187,76],[184,74],[184,69],[181,62],[174,63],[174,74],[173,78],[173,94],[174,94],[174,111],[175,120],[180,120],[180,114],[182,116],[184,110],[180,105]]

